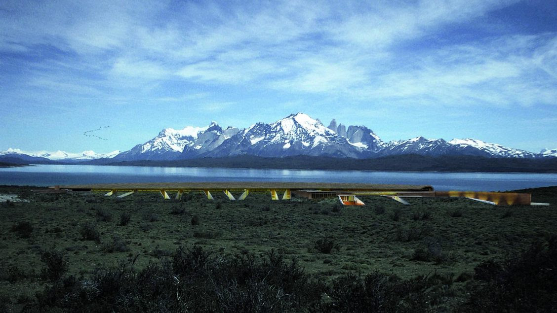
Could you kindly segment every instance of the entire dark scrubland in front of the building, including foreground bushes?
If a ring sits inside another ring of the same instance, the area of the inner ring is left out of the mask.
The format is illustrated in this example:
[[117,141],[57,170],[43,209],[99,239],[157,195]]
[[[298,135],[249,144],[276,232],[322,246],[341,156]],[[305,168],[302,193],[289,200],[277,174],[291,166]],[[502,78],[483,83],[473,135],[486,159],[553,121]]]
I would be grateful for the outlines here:
[[557,311],[549,207],[362,197],[164,201],[139,193],[0,203],[0,311]]

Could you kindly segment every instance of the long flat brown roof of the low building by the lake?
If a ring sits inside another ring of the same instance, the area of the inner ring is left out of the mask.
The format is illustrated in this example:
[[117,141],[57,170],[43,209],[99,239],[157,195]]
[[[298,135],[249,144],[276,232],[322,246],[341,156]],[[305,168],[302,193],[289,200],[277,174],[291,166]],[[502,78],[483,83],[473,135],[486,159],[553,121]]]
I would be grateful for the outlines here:
[[[55,187],[50,187],[55,188]],[[316,190],[316,191],[433,191],[429,185],[387,185],[341,182],[141,182],[61,185],[70,190]]]

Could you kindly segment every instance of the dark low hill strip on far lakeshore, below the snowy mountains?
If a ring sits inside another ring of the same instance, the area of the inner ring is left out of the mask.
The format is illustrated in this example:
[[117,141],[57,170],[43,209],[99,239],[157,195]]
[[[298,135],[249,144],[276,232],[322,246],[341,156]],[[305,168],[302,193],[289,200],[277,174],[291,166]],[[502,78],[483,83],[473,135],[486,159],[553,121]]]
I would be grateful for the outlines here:
[[492,158],[478,156],[397,155],[356,159],[319,156],[281,158],[251,155],[197,158],[173,161],[94,160],[97,165],[229,167],[229,168],[291,168],[303,170],[368,170],[368,171],[441,171],[441,172],[539,172],[556,173],[557,158]]

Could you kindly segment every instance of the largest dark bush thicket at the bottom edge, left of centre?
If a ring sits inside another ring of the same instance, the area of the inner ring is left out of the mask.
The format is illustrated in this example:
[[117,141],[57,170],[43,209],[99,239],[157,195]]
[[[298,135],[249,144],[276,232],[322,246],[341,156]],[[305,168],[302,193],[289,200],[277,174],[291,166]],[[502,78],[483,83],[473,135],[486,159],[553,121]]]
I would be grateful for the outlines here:
[[[135,260],[135,259],[134,259]],[[66,277],[39,292],[26,311],[299,312],[321,302],[324,286],[295,260],[271,250],[216,256],[180,247],[168,260],[135,270],[133,261]]]

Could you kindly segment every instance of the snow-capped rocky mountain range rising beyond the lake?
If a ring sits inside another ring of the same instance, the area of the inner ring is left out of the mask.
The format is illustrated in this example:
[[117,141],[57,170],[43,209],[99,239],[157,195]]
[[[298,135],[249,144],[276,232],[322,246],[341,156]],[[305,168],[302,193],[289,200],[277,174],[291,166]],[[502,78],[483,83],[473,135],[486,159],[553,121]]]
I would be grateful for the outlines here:
[[124,152],[26,152],[10,148],[0,151],[0,161],[19,158],[26,162],[128,162],[233,156],[367,159],[400,155],[537,159],[557,157],[557,149],[534,153],[471,138],[446,141],[419,136],[384,142],[366,126],[346,127],[335,120],[325,126],[304,113],[296,113],[270,124],[260,122],[243,129],[222,128],[216,122],[207,127],[188,126],[182,130],[165,128],[151,140]]

